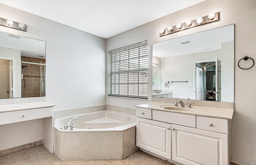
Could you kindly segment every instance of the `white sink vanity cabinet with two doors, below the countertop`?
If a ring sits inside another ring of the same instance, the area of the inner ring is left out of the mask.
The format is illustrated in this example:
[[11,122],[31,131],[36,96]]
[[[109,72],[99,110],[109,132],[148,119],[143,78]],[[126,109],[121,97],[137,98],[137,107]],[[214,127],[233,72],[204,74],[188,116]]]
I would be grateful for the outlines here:
[[184,165],[229,164],[227,119],[146,108],[136,116],[138,147]]

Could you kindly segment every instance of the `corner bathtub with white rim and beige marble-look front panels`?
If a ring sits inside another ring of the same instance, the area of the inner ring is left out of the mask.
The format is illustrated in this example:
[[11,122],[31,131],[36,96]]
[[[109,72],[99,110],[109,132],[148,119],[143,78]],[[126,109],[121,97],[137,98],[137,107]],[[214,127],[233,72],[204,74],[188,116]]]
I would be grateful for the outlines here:
[[[73,130],[64,130],[70,119]],[[54,121],[54,154],[60,160],[122,160],[135,151],[136,117],[108,110]]]

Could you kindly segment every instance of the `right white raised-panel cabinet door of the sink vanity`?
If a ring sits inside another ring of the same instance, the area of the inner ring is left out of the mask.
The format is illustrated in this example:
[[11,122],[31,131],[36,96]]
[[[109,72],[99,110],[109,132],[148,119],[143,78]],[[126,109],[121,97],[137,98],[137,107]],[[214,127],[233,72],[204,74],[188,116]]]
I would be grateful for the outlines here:
[[172,124],[172,160],[185,165],[228,165],[228,135]]

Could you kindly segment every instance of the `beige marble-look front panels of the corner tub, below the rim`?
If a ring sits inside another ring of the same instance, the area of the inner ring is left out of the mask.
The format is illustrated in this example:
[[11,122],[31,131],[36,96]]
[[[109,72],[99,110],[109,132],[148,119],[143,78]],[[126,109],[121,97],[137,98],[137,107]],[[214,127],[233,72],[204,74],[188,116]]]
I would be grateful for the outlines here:
[[54,128],[54,154],[62,161],[122,160],[138,150],[135,132],[135,127],[124,132],[68,133]]

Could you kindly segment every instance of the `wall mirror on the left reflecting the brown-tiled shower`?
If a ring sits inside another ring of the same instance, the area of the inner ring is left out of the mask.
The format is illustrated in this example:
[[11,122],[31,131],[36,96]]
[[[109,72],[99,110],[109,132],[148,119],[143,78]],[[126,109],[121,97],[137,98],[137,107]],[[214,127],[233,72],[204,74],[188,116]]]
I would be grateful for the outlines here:
[[45,96],[45,41],[0,32],[0,98]]

